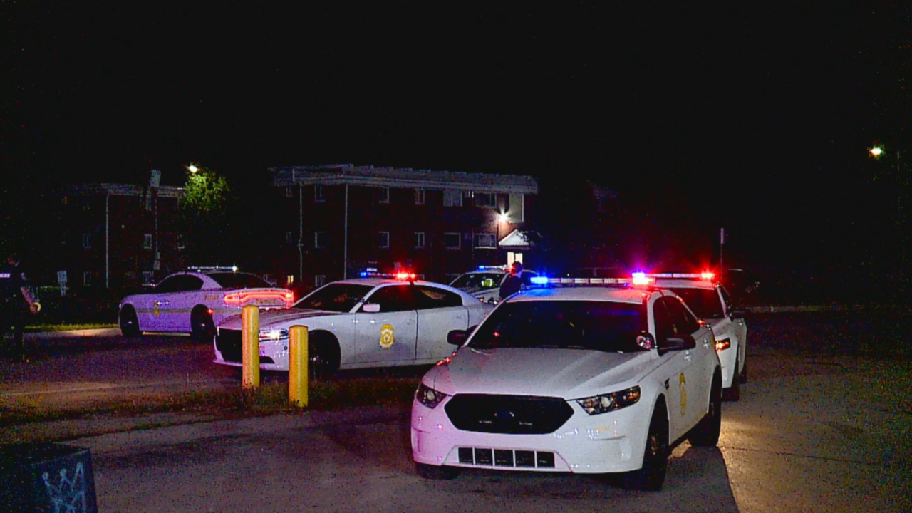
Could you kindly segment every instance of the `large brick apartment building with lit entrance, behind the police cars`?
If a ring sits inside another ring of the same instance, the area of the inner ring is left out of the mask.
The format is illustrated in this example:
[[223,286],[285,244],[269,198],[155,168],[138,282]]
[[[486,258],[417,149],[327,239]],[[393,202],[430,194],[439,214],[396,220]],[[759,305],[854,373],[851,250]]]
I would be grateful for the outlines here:
[[529,176],[352,164],[271,168],[284,240],[279,282],[314,288],[368,267],[448,282],[480,265],[528,265]]

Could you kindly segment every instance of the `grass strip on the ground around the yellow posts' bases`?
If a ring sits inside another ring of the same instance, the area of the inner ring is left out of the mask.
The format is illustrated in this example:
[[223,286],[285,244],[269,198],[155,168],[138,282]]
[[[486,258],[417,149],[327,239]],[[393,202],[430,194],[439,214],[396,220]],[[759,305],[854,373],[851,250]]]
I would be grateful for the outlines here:
[[[331,411],[352,407],[410,403],[420,378],[358,378],[310,383],[308,405],[297,407],[288,401],[287,382],[269,382],[245,390],[240,384],[205,392],[180,393],[164,397],[120,400],[74,406],[73,409],[12,407],[0,410],[0,427],[46,423],[105,416],[149,415],[161,412],[197,413],[236,418],[269,414],[295,414],[307,410]],[[142,425],[159,426],[155,421]]]

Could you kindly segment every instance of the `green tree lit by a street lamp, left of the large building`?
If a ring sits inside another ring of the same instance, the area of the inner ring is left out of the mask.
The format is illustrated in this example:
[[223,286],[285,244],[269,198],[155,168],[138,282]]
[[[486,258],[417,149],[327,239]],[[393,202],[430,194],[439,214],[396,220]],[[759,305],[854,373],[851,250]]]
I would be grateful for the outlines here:
[[223,176],[208,168],[189,172],[181,196],[181,229],[192,265],[228,265],[224,258],[224,237],[229,232],[233,204],[231,186]]

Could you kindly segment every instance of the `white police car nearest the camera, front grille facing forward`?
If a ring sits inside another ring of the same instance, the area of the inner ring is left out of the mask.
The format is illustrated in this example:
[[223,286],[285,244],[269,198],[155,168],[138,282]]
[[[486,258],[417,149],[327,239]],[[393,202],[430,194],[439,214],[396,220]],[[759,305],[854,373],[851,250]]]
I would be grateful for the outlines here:
[[660,488],[671,445],[719,440],[712,330],[667,290],[548,281],[471,333],[451,333],[464,343],[424,375],[412,403],[419,475],[619,473],[626,487]]

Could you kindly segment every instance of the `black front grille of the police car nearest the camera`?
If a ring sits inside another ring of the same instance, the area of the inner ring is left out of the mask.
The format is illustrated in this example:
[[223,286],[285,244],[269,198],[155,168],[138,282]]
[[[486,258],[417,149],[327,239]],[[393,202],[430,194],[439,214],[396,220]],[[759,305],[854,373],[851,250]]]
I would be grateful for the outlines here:
[[554,433],[573,416],[559,397],[459,393],[444,407],[462,431],[502,434]]

